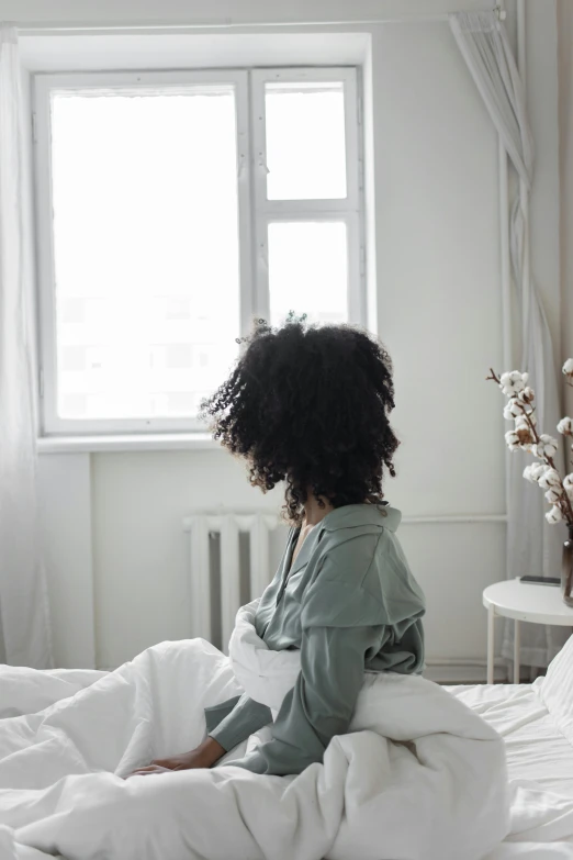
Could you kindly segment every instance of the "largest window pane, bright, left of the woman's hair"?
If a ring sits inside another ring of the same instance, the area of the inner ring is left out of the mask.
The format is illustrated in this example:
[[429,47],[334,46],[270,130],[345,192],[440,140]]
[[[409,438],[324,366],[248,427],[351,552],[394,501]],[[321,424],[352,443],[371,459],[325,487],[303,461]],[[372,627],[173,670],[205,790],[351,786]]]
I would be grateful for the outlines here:
[[189,416],[239,334],[233,86],[52,99],[57,411]]

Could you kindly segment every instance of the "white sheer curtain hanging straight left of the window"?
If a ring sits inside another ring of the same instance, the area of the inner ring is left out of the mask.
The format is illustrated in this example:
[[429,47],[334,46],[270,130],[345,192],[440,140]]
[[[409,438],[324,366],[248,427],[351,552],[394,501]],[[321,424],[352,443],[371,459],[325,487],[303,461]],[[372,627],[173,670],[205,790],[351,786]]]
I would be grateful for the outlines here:
[[16,32],[0,26],[0,639],[5,662],[45,669],[52,655],[37,516],[22,127]]

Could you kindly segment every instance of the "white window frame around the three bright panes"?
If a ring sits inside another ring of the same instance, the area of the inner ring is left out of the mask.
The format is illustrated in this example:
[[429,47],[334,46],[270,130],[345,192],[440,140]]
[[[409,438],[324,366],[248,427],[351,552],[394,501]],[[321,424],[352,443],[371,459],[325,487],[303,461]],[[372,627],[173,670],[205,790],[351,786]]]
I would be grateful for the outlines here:
[[[344,81],[347,197],[339,200],[267,200],[265,83],[267,81]],[[237,200],[239,231],[239,309],[241,335],[254,317],[269,319],[267,232],[269,222],[344,221],[348,235],[348,319],[366,324],[363,243],[363,165],[361,110],[355,67],[215,69],[183,71],[61,72],[34,76],[33,141],[37,232],[40,317],[38,391],[42,435],[168,434],[204,432],[192,417],[61,418],[57,414],[56,283],[54,266],[50,93],[102,88],[181,88],[233,85],[236,92]]]

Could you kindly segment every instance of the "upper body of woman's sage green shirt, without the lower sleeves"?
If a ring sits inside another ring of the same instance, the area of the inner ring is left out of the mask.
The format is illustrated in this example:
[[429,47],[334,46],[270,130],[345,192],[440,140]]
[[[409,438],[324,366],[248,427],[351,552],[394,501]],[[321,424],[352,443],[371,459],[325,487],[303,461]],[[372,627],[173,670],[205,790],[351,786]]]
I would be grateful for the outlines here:
[[367,670],[420,672],[425,600],[395,536],[400,521],[389,505],[338,507],[314,527],[291,567],[292,529],[256,616],[269,648],[300,648],[303,626],[372,627]]

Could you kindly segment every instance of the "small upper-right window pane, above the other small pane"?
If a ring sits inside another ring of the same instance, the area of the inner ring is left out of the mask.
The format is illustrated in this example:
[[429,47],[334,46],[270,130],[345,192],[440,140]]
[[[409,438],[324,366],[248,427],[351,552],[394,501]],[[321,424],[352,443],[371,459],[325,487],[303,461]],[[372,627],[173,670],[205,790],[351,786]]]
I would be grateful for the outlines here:
[[344,83],[267,83],[265,105],[268,199],[345,198]]

